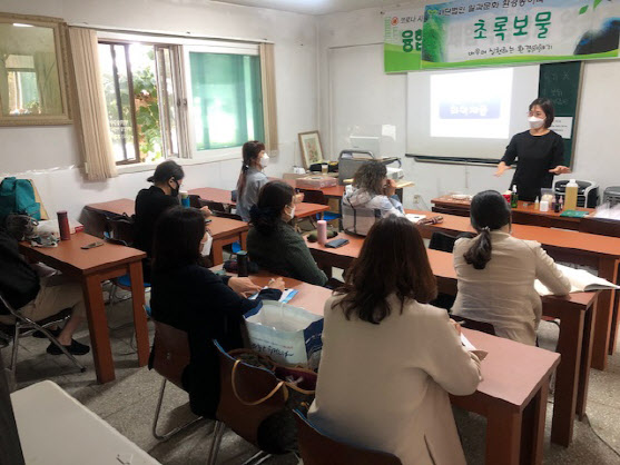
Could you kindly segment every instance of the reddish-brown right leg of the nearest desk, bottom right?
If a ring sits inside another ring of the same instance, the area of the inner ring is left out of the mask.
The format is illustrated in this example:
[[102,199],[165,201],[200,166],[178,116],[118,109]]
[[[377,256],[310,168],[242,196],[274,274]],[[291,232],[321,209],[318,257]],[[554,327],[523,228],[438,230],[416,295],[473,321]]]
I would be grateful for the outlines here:
[[530,400],[523,412],[521,425],[521,464],[542,464],[544,442],[544,417],[547,416],[547,397],[549,396],[549,377],[542,380],[541,388]]

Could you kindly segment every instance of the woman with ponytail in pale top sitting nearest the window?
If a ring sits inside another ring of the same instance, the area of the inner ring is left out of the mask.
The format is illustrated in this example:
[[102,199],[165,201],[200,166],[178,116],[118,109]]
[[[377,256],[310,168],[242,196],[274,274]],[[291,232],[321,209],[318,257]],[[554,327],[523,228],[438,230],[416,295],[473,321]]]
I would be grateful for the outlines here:
[[249,209],[258,200],[258,191],[269,179],[263,169],[269,162],[265,145],[258,140],[245,142],[242,149],[243,166],[237,180],[237,215],[249,221]]

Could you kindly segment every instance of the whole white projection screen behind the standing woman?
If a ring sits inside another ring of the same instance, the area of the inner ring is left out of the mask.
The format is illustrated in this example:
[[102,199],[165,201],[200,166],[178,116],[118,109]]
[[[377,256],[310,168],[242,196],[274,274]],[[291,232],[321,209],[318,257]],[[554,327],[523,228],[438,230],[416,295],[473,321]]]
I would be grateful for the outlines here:
[[528,130],[538,65],[407,73],[407,154],[498,160]]

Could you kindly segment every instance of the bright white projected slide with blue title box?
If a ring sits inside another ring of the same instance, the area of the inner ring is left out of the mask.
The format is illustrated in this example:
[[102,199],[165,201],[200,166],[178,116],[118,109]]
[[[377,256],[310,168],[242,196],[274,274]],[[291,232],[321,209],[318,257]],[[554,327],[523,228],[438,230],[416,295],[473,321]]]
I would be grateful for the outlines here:
[[431,76],[431,137],[505,139],[512,68]]

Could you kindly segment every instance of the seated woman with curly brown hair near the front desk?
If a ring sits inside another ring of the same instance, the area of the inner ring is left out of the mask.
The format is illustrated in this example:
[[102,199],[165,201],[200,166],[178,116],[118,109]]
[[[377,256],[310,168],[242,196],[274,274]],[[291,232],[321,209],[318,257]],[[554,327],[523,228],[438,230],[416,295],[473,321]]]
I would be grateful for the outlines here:
[[395,198],[396,182],[387,179],[387,168],[378,161],[362,165],[353,178],[353,190],[343,197],[344,230],[366,236],[378,218],[404,216]]

